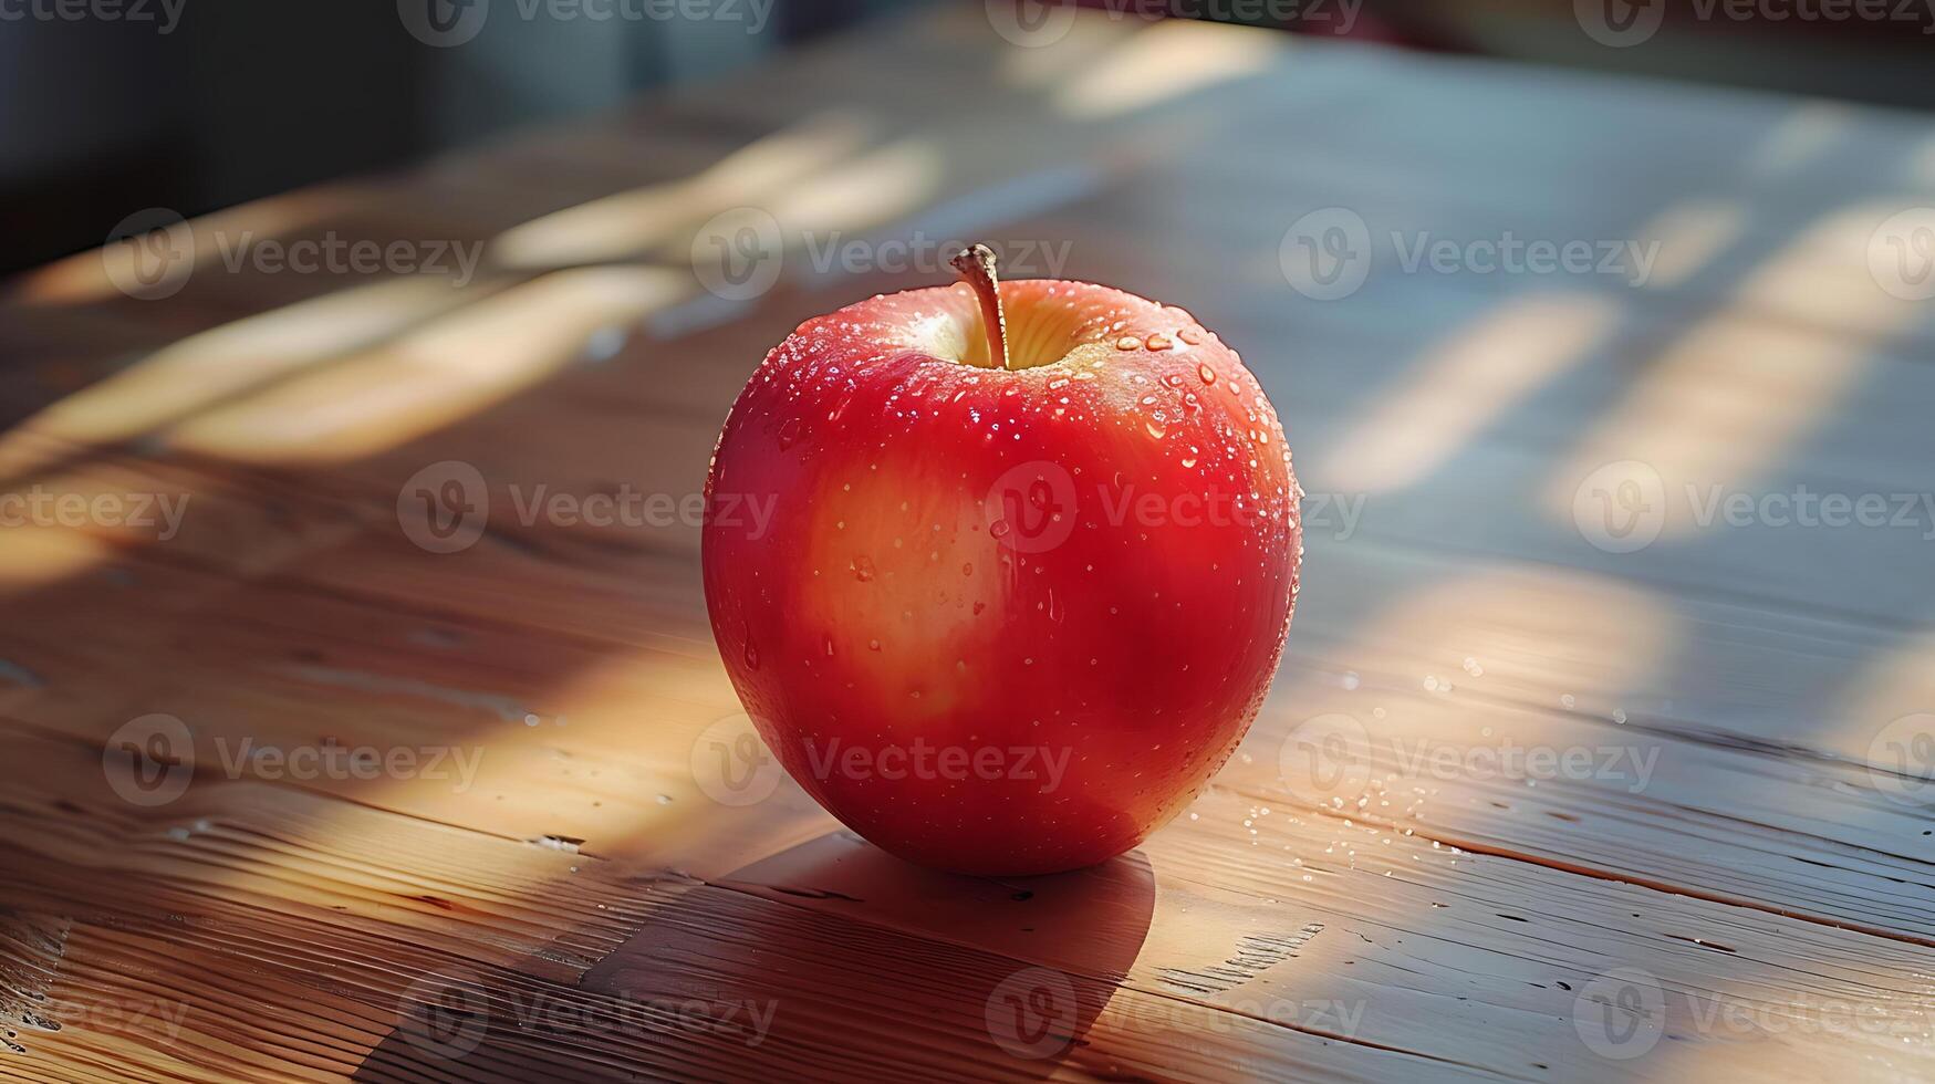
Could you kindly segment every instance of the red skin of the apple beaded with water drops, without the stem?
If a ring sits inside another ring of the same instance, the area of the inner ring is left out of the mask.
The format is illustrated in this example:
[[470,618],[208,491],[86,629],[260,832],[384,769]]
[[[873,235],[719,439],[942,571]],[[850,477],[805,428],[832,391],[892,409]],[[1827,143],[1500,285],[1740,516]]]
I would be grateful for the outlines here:
[[1190,314],[1000,296],[1010,354],[1053,364],[979,368],[966,285],[776,346],[720,432],[702,563],[733,687],[820,805],[921,865],[1035,875],[1134,848],[1235,751],[1289,631],[1300,490]]

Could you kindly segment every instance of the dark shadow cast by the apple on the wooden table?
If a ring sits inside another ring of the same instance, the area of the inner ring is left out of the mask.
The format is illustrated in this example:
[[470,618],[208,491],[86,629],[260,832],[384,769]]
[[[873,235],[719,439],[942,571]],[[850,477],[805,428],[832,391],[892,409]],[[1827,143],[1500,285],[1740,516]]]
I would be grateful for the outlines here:
[[354,1080],[1047,1078],[1147,937],[1142,854],[1027,879],[937,873],[836,830],[716,881],[644,881],[577,983],[445,968]]

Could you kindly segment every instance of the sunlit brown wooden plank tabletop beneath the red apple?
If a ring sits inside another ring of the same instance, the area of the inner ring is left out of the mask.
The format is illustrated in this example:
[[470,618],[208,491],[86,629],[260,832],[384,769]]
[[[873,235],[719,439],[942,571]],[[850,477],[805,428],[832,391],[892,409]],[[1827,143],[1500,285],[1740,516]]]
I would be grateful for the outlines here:
[[[23,275],[0,1076],[1927,1080],[1935,306],[1871,259],[1918,205],[1923,116],[968,4],[199,219],[161,300],[128,246]],[[735,207],[757,296],[695,275]],[[1362,285],[1293,288],[1339,223]],[[1190,308],[1312,494],[1238,755],[1027,883],[722,759],[691,525],[521,515],[699,492],[766,346],[960,236]],[[250,256],[304,240],[430,269]]]

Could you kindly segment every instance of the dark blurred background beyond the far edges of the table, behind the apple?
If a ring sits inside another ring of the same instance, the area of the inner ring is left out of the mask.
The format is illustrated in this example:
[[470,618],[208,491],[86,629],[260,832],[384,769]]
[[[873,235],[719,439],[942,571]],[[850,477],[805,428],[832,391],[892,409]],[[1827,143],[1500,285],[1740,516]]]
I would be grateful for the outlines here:
[[[646,87],[704,95],[774,50],[909,8],[981,0],[0,0],[0,273],[99,246],[143,207],[199,215],[387,170]],[[1018,17],[1039,17],[1035,0]],[[1726,6],[1716,17],[1712,4]],[[1858,4],[1889,17],[1848,17]],[[1935,108],[1927,0],[1086,0],[1401,48]],[[1832,17],[1842,10],[1842,17]],[[602,15],[602,17],[600,17]],[[466,19],[474,19],[472,25]],[[399,23],[412,33],[399,33]],[[1643,27],[1620,48],[1583,25]],[[439,35],[466,48],[439,46]]]

